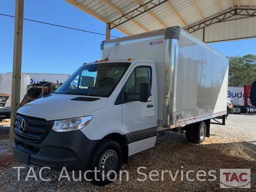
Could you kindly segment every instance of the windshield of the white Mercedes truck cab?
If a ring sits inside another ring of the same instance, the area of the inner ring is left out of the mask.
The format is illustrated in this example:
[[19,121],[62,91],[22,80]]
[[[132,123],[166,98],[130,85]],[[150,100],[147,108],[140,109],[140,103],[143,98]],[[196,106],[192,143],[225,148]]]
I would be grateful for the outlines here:
[[81,66],[55,93],[108,97],[129,65],[130,63],[98,63]]

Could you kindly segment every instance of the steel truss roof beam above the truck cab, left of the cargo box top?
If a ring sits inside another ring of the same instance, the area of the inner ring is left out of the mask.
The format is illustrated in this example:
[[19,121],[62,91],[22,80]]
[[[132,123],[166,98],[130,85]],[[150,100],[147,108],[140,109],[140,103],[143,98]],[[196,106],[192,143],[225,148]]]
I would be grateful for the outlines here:
[[[134,9],[134,10],[124,14],[123,16],[121,16],[121,17],[119,17],[119,18],[109,22],[108,24],[112,25],[111,29],[116,28],[116,27],[118,27],[118,26],[120,26],[120,25],[122,25],[122,24],[124,24],[124,23],[126,23],[126,22],[128,22],[128,21],[130,21],[130,20],[132,20],[132,19],[134,19],[134,18],[136,18],[136,17],[146,13],[146,12],[148,12],[149,10],[156,8],[157,6],[167,2],[168,0],[159,0],[156,3],[153,3],[153,1],[155,1],[155,0],[150,0],[150,1],[146,2],[145,4],[143,4],[143,5],[139,6],[138,8],[136,8],[136,9]],[[152,7],[148,7],[149,4],[152,4],[153,6]],[[144,10],[141,11],[141,8],[143,8]],[[130,18],[128,18],[129,15],[131,15]],[[124,20],[124,21],[122,21],[122,20]]]

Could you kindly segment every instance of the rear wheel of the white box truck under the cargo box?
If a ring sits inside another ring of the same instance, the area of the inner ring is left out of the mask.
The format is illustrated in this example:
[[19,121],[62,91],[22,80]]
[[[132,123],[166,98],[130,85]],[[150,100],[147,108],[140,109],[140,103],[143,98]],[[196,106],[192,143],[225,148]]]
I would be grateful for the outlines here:
[[198,122],[194,125],[193,140],[195,143],[202,143],[206,136],[206,124],[204,121]]

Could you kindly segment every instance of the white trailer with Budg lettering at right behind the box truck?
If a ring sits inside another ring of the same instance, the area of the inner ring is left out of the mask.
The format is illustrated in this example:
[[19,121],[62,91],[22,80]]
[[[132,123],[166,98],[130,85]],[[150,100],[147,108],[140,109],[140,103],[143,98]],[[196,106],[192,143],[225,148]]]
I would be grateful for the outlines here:
[[233,100],[235,114],[256,113],[256,108],[251,106],[250,103],[248,104],[251,87],[251,85],[245,85],[242,87],[228,87],[228,98]]

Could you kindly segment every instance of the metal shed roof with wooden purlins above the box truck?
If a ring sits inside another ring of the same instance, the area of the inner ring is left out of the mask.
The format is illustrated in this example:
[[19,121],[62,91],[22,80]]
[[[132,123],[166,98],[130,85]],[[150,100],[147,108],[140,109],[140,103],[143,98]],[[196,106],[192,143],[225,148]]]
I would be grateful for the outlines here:
[[180,26],[204,42],[256,37],[256,0],[66,1],[126,35]]

